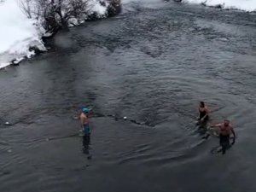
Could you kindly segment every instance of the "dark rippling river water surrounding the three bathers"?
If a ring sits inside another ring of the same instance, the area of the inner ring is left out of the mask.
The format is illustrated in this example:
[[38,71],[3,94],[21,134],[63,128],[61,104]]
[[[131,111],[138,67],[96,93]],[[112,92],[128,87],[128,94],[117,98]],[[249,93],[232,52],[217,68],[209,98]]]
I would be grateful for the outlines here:
[[[49,46],[0,71],[1,192],[255,191],[255,14],[125,3]],[[235,126],[224,155],[195,125],[201,100]]]

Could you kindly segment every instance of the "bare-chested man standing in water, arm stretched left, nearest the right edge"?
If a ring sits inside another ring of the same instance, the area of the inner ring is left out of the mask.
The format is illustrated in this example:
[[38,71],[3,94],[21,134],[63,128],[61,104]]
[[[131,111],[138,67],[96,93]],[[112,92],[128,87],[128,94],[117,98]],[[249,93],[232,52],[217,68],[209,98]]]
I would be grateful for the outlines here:
[[231,145],[233,145],[236,142],[236,132],[234,131],[234,128],[230,124],[230,120],[224,119],[223,123],[217,124],[217,125],[211,125],[211,127],[218,128],[218,137],[219,137],[219,145],[222,148],[222,154],[225,154],[226,149],[230,148],[230,134],[233,134],[233,142]]

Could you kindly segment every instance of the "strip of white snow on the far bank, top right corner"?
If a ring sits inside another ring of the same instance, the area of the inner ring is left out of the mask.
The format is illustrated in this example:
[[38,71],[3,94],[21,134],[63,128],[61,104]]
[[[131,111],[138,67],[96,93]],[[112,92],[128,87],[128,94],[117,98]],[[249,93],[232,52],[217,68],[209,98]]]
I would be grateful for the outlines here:
[[256,11],[256,0],[183,0],[186,3],[204,3],[207,6],[221,6],[224,9]]

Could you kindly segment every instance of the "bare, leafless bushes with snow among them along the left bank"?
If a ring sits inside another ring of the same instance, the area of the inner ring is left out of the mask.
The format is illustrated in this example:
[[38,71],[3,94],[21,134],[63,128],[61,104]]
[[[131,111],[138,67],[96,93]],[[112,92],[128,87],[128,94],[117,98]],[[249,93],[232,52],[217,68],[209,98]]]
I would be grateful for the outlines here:
[[120,0],[20,0],[20,8],[28,18],[38,20],[45,34],[54,34],[85,20],[118,14]]

